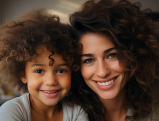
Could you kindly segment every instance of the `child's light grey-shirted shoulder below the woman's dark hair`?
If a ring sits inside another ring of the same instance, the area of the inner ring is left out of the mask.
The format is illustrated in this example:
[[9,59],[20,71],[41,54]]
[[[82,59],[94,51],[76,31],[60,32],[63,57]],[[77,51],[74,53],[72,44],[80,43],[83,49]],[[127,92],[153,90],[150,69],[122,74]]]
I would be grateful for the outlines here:
[[[68,121],[89,121],[87,113],[79,105],[73,104],[71,102],[62,102],[63,107],[63,119],[68,119]],[[63,120],[63,121],[64,121]]]

